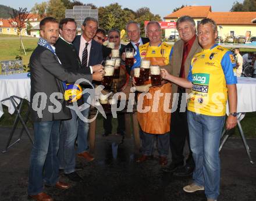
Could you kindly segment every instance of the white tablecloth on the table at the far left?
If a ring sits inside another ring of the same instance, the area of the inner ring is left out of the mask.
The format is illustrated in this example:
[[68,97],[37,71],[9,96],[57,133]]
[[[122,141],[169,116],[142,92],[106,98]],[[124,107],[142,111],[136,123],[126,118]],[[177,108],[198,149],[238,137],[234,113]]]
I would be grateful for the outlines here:
[[[10,100],[2,101],[10,96],[17,96],[19,98],[30,101],[30,78],[27,77],[27,73],[12,74],[9,76],[0,75],[0,117],[3,114],[2,105],[8,107],[8,112],[13,114],[15,107],[13,107]],[[20,103],[19,99],[15,99],[17,103]]]

